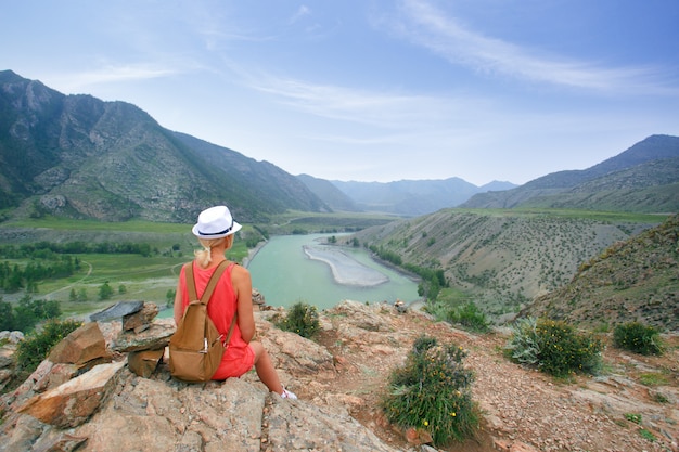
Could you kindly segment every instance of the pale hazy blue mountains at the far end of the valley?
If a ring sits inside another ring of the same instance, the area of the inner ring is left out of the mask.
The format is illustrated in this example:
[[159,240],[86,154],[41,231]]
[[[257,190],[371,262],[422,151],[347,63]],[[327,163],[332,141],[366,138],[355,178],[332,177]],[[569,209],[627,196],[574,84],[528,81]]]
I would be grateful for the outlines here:
[[[331,181],[364,211],[396,214],[406,217],[431,214],[454,207],[472,195],[487,190],[508,190],[510,182],[491,182],[482,188],[460,178],[445,180],[401,180],[395,182]],[[319,194],[321,198],[323,196]],[[328,201],[325,199],[328,203]]]

